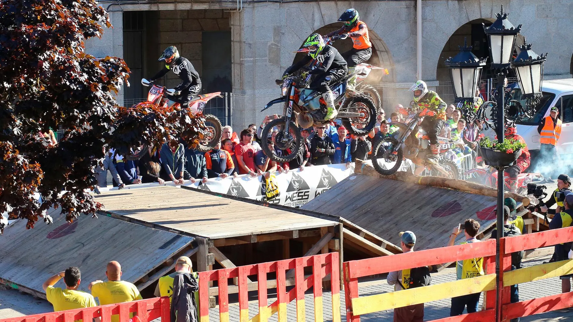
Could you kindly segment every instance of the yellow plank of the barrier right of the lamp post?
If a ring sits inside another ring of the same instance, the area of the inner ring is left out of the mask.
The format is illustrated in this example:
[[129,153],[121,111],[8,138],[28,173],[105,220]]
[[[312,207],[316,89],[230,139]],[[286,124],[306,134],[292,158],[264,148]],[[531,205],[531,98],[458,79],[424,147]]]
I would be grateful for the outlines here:
[[573,273],[573,260],[556,261],[503,273],[504,287]]

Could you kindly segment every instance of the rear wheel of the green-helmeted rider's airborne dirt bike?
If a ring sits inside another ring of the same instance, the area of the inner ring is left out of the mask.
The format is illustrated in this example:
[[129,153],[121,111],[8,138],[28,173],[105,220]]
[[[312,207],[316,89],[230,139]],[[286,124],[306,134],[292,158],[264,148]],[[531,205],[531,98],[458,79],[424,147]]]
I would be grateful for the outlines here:
[[[350,134],[363,136],[368,134],[376,125],[376,106],[371,98],[364,94],[356,94],[348,99],[348,101],[340,108],[341,112],[348,113],[363,113],[360,117],[342,118],[342,125],[348,129]],[[363,128],[359,129],[358,124],[362,124]]]

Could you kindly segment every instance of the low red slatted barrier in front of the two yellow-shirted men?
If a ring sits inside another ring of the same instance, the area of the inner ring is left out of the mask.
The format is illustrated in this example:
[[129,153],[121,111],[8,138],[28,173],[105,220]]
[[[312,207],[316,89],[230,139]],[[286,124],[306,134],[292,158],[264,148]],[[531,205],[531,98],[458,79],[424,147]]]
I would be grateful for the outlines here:
[[164,296],[126,303],[100,305],[99,307],[10,317],[9,319],[0,319],[0,322],[73,322],[75,320],[91,322],[95,317],[101,317],[101,322],[111,322],[111,316],[116,314],[119,315],[119,322],[127,322],[131,312],[142,322],[155,320],[158,317],[161,317],[162,322],[170,322],[169,308],[169,297]]

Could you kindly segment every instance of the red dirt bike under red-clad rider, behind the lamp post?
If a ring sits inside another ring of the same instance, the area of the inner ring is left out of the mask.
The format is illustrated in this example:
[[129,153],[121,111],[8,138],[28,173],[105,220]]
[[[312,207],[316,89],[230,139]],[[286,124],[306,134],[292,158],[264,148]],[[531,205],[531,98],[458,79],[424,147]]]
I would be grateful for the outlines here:
[[[467,181],[497,188],[497,169],[495,168],[470,169],[466,171],[465,177]],[[509,177],[504,175],[504,180],[504,190],[509,191]],[[531,182],[539,184],[544,182],[544,180],[541,173],[520,173],[517,175],[517,193],[525,196],[527,194],[527,184]]]

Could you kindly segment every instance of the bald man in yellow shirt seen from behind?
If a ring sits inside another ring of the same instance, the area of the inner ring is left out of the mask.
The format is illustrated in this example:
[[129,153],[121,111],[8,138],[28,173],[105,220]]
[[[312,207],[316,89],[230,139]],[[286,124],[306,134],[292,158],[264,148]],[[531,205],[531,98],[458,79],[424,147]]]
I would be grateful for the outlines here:
[[[143,299],[134,284],[121,280],[121,274],[121,265],[115,260],[110,261],[105,271],[108,281],[97,280],[89,283],[88,289],[92,291],[93,297],[97,297],[100,305]],[[133,313],[130,317],[133,317]],[[112,322],[119,322],[119,315],[112,315],[111,320]]]

